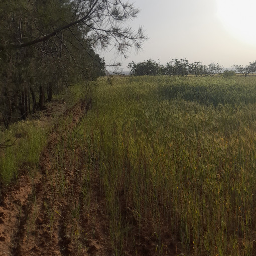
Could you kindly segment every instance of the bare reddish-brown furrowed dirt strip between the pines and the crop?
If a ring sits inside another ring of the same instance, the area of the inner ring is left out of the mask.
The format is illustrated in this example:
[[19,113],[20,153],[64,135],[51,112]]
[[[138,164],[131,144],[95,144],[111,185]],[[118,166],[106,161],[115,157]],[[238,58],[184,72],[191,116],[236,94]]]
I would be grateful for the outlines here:
[[[60,140],[67,143],[68,131],[74,129],[90,105],[90,100],[81,101],[65,112],[67,118],[72,116],[72,122],[64,133],[58,129],[58,125],[54,127],[40,156],[40,170],[36,170],[32,175],[27,170],[21,170],[22,174],[17,183],[2,195],[0,255],[94,255],[96,252],[100,253],[99,255],[109,254],[109,245],[105,242],[108,239],[107,232],[104,234],[100,231],[101,228],[97,229],[100,220],[94,219],[92,223],[89,216],[79,218],[82,212],[80,208],[76,213],[71,210],[74,204],[82,206],[82,199],[79,199],[81,174],[70,166],[70,152],[67,147],[64,151],[65,161],[61,177],[65,184],[63,194],[60,194],[57,182],[60,177],[53,164],[56,161],[56,145]],[[92,188],[90,214],[94,210],[99,213],[102,205],[97,180]],[[88,210],[84,212],[89,215]],[[94,225],[93,231],[91,225]],[[81,227],[84,230],[80,230]],[[86,234],[84,240],[80,238],[82,233]],[[77,240],[74,236],[77,236]]]

